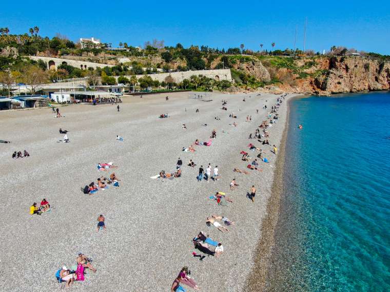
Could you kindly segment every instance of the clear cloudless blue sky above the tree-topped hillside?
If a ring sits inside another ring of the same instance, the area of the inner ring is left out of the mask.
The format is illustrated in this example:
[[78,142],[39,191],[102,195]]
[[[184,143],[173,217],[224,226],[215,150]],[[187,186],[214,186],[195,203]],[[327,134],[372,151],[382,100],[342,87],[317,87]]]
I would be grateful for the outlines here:
[[[286,4],[284,4],[286,3]],[[229,48],[303,48],[321,51],[346,46],[390,55],[390,1],[3,1],[0,27],[25,33],[33,26],[41,35],[61,33],[76,41],[100,38],[132,46],[153,38],[165,45]]]

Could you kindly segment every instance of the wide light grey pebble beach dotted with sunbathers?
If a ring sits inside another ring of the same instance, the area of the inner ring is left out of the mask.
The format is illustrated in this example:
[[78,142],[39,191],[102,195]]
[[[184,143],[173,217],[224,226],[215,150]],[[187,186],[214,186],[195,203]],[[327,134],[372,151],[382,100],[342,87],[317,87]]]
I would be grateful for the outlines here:
[[[93,259],[97,272],[87,269],[85,281],[75,282],[72,290],[169,291],[180,269],[188,266],[203,291],[244,291],[248,277],[256,277],[256,247],[276,169],[277,155],[271,149],[272,144],[279,148],[286,101],[292,96],[282,103],[278,122],[267,129],[270,145],[248,136],[275,105],[279,95],[272,94],[213,93],[212,101],[189,99],[187,93],[124,97],[120,112],[116,105],[73,105],[60,107],[63,118],[54,118],[51,109],[0,112],[0,139],[12,141],[0,144],[0,290],[60,289],[56,271],[74,265],[77,253],[83,252]],[[221,110],[222,99],[227,100],[227,111]],[[237,119],[228,117],[231,112]],[[163,113],[169,118],[160,119]],[[252,122],[246,122],[247,115]],[[238,126],[229,126],[234,121]],[[57,143],[63,138],[60,128],[69,131],[70,143]],[[213,129],[217,138],[210,147],[182,151],[196,139],[208,141]],[[115,140],[116,135],[124,141]],[[249,151],[250,142],[270,161],[258,159],[263,172],[246,169],[248,162],[241,160],[242,150],[253,158],[258,154]],[[11,158],[14,151],[25,149],[29,158]],[[161,170],[173,173],[179,157],[181,178],[150,178]],[[190,159],[195,168],[187,166]],[[110,161],[119,167],[97,171],[97,163]],[[220,179],[198,182],[199,166],[206,169],[208,163],[212,168],[218,165]],[[250,174],[235,173],[234,168]],[[93,196],[83,194],[81,187],[113,171],[121,179],[119,189],[110,186]],[[230,191],[233,178],[239,186]],[[246,197],[252,184],[258,190],[254,203]],[[209,199],[218,191],[233,203],[219,206]],[[52,211],[30,215],[30,205],[43,198]],[[107,230],[97,233],[100,214],[106,217]],[[228,233],[207,227],[211,214],[226,216],[236,225],[226,226]],[[191,241],[200,231],[223,244],[222,256],[203,261],[192,257],[192,252],[200,253]]]

